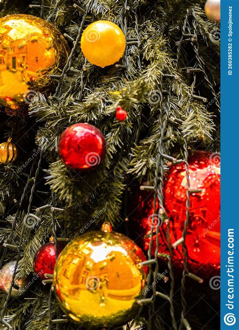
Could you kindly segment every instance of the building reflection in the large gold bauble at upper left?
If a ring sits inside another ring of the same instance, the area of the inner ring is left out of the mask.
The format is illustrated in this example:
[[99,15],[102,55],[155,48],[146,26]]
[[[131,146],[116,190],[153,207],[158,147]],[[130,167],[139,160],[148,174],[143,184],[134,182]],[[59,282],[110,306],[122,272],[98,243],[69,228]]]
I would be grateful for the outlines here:
[[[2,35],[0,46],[0,70],[2,87],[9,86],[14,82],[13,93],[26,91],[26,83],[37,77],[41,70],[50,67],[55,62],[54,50],[51,47],[51,38],[46,38],[41,29],[33,28],[27,22],[20,21],[19,33],[12,27],[12,20],[7,22],[0,30]],[[30,29],[27,33],[27,28]],[[9,71],[9,72],[7,72]],[[3,94],[2,91],[1,94]],[[13,97],[11,90],[9,97]],[[5,96],[6,93],[4,92]]]

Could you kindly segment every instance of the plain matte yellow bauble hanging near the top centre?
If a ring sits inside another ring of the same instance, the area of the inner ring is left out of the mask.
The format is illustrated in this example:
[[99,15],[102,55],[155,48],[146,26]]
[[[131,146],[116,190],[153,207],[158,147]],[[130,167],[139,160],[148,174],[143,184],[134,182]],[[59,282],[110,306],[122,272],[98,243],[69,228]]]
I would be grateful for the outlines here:
[[90,24],[81,37],[81,49],[92,64],[105,67],[114,64],[124,54],[126,40],[123,31],[109,21]]

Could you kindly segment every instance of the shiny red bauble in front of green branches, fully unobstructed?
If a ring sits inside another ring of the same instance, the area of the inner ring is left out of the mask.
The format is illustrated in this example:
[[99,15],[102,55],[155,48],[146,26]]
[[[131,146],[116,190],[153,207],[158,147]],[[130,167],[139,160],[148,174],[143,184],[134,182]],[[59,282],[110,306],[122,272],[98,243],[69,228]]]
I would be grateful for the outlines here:
[[59,156],[69,169],[87,171],[103,160],[106,143],[95,126],[79,123],[62,133],[58,149]]

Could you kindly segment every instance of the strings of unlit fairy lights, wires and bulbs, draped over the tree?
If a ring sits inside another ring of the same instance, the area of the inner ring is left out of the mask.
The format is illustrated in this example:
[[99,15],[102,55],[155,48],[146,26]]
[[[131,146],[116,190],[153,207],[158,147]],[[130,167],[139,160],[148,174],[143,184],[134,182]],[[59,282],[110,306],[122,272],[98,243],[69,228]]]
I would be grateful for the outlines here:
[[[1,2],[1,0],[0,0]],[[68,57],[67,63],[62,71],[61,75],[50,75],[51,78],[57,79],[58,80],[58,84],[55,90],[55,94],[54,97],[59,97],[61,95],[61,87],[64,81],[64,77],[68,74],[68,72],[71,70],[72,67],[72,60],[73,60],[73,56],[76,52],[77,47],[79,46],[80,43],[80,39],[82,36],[82,32],[83,32],[83,28],[85,25],[85,21],[86,18],[88,17],[88,15],[90,14],[90,9],[91,9],[91,5],[92,5],[92,1],[89,2],[85,8],[81,8],[79,7],[77,4],[74,4],[74,8],[76,10],[79,11],[79,14],[81,15],[81,25],[79,27],[79,31],[78,31],[78,36],[75,40],[73,40],[70,36],[68,36],[67,34],[65,34],[65,37],[67,37],[71,42],[73,42],[73,47],[71,49],[70,55]],[[30,8],[35,8],[35,9],[39,9],[40,11],[40,17],[43,17],[44,15],[44,1],[42,0],[41,5],[30,5]],[[129,12],[131,11],[131,8],[128,6],[128,2],[127,0],[125,1],[125,13],[122,13],[122,17],[121,17],[121,24],[122,24],[122,28],[123,28],[123,32],[125,35],[127,35],[127,24],[128,24],[128,17],[129,17]],[[127,14],[127,15],[126,15]],[[132,15],[135,17],[135,33],[136,33],[136,38],[135,40],[130,40],[127,42],[127,45],[139,45],[139,43],[141,42],[140,39],[140,33],[139,33],[139,26],[138,26],[138,17],[136,15],[136,13],[132,12]],[[193,19],[193,23],[190,23],[190,19]],[[181,27],[180,26],[176,26],[176,27],[172,27],[170,31],[180,31]],[[193,30],[193,31],[191,31]],[[204,67],[202,65],[202,61],[198,52],[198,44],[197,44],[197,26],[196,26],[196,18],[195,18],[195,13],[193,12],[193,10],[188,10],[185,21],[183,23],[182,26],[182,37],[181,39],[177,42],[176,46],[177,46],[177,59],[181,56],[181,47],[182,44],[185,42],[185,40],[187,39],[187,42],[191,43],[192,48],[195,52],[195,57],[196,57],[196,64],[194,67],[187,67],[187,68],[183,68],[183,69],[187,69],[189,73],[193,74],[193,82],[191,85],[192,88],[192,98],[196,99],[200,102],[206,102],[207,99],[201,96],[196,96],[193,94],[195,85],[196,85],[196,76],[198,72],[203,72],[204,74],[204,78],[208,83],[209,89],[212,91],[213,96],[216,97],[216,94],[214,92],[214,89],[211,85],[211,82],[204,70]],[[125,55],[126,57],[126,55]],[[118,68],[121,69],[121,75],[123,78],[129,78],[129,73],[127,72],[127,60],[124,57],[123,59],[123,65],[118,65]],[[138,56],[138,69],[141,69],[141,60],[140,60],[140,55]],[[124,67],[124,70],[122,69]],[[182,69],[182,68],[181,68]],[[182,70],[183,70],[182,69]],[[167,74],[165,73],[162,76],[163,78],[168,78],[168,79],[176,79],[177,77],[175,75],[171,75],[171,74]],[[82,82],[80,89],[84,89],[84,82]],[[161,88],[161,86],[160,86]],[[161,136],[160,136],[160,140],[158,143],[158,157],[156,160],[156,169],[155,169],[155,178],[154,178],[154,183],[152,186],[142,186],[142,189],[145,191],[154,191],[154,213],[156,213],[157,211],[157,203],[158,205],[160,205],[160,208],[162,209],[163,212],[158,212],[158,217],[160,218],[160,221],[157,222],[155,231],[156,231],[156,247],[155,247],[155,252],[154,254],[152,254],[152,246],[153,246],[153,236],[155,234],[154,232],[154,228],[153,226],[151,227],[151,232],[150,232],[150,243],[149,243],[149,249],[148,249],[148,260],[145,262],[141,263],[141,266],[148,266],[149,268],[149,272],[147,275],[147,283],[146,283],[146,287],[145,287],[145,291],[147,292],[147,295],[143,298],[143,299],[139,299],[138,300],[138,304],[140,306],[139,308],[139,312],[137,314],[137,317],[131,321],[130,323],[127,324],[127,329],[131,329],[134,322],[139,320],[141,317],[141,314],[144,310],[144,308],[148,308],[148,319],[146,320],[146,326],[148,330],[151,330],[152,328],[152,318],[154,316],[155,313],[157,313],[156,307],[155,307],[155,301],[157,299],[157,297],[161,298],[161,299],[165,299],[166,301],[169,302],[170,305],[170,315],[171,315],[171,320],[172,320],[172,327],[174,330],[183,330],[183,328],[186,328],[187,330],[191,330],[191,325],[189,324],[187,318],[186,318],[186,314],[187,314],[187,301],[185,299],[185,292],[186,292],[186,278],[190,277],[191,279],[202,283],[202,279],[194,274],[191,274],[189,272],[188,269],[188,255],[187,255],[187,249],[186,249],[186,245],[185,245],[185,240],[186,240],[186,235],[187,235],[187,228],[188,228],[188,224],[189,224],[189,217],[190,217],[190,196],[192,193],[195,193],[195,191],[190,190],[190,176],[189,176],[189,163],[188,163],[188,157],[189,157],[189,148],[188,148],[188,144],[187,144],[187,140],[186,138],[183,137],[184,139],[184,146],[183,146],[183,155],[184,157],[182,159],[175,159],[174,157],[170,156],[169,154],[167,154],[167,152],[169,153],[169,149],[167,147],[167,144],[165,143],[165,131],[166,131],[166,127],[168,125],[168,122],[173,123],[175,125],[177,125],[177,127],[180,127],[182,125],[182,120],[181,119],[177,119],[177,118],[172,118],[170,115],[170,101],[169,101],[169,95],[165,96],[160,92],[160,106],[166,105],[166,115],[164,116],[163,113],[161,113],[160,116],[160,125],[161,125]],[[219,101],[216,101],[216,106],[219,106]],[[162,150],[164,150],[164,152],[162,152]],[[166,151],[165,151],[166,150]],[[27,216],[29,215],[33,215],[33,216],[37,216],[34,215],[32,213],[32,200],[33,200],[33,194],[36,188],[36,182],[37,182],[37,177],[39,175],[39,171],[40,171],[40,166],[41,166],[41,161],[42,161],[42,157],[43,157],[43,151],[41,151],[40,155],[39,155],[39,159],[37,162],[37,169],[35,171],[35,173],[33,174],[33,168],[35,166],[35,162],[33,163],[31,172],[28,176],[27,179],[27,183],[24,189],[24,193],[22,196],[22,200],[24,199],[24,197],[27,195],[27,189],[30,187],[31,182],[33,182],[32,186],[31,186],[31,190],[30,190],[30,196],[29,196],[29,204],[28,204],[28,210],[27,210]],[[163,196],[163,177],[164,177],[164,171],[165,171],[165,161],[169,161],[171,163],[184,163],[185,164],[185,172],[186,172],[186,178],[187,178],[187,199],[186,199],[186,214],[185,214],[185,222],[184,222],[184,229],[183,229],[183,234],[182,237],[180,239],[178,239],[176,242],[174,242],[173,244],[171,244],[170,241],[170,234],[169,234],[169,226],[170,226],[170,222],[168,221],[168,217],[166,216],[166,220],[165,220],[165,215],[166,215],[166,210],[164,209],[163,205],[164,205],[164,196]],[[20,202],[19,204],[19,209],[16,213],[15,216],[15,220],[12,224],[12,232],[14,231],[15,227],[16,227],[16,221],[20,215],[20,211],[21,211],[21,206],[22,203]],[[46,208],[49,208],[51,210],[51,224],[52,224],[52,233],[54,236],[54,242],[55,242],[55,250],[56,250],[56,258],[57,258],[57,242],[58,241],[69,241],[69,238],[59,238],[57,237],[57,230],[56,230],[56,222],[55,222],[55,212],[64,212],[64,209],[60,209],[55,207],[55,201],[54,201],[54,194],[52,193],[52,202],[50,205],[43,205],[42,207],[37,208],[35,211],[36,212],[41,212],[43,210],[45,210]],[[168,251],[169,254],[165,255],[160,253],[160,242],[158,239],[158,235],[159,235],[159,228],[162,225],[162,223],[166,223],[167,225],[167,233],[166,233],[166,241],[168,244]],[[6,256],[6,251],[7,249],[13,249],[17,251],[17,259],[16,259],[16,265],[14,267],[14,273],[13,273],[13,279],[12,279],[12,283],[11,286],[9,288],[9,293],[6,296],[5,299],[5,303],[3,306],[3,309],[1,311],[1,319],[0,322],[2,322],[7,328],[9,329],[13,329],[13,327],[11,326],[11,324],[9,322],[7,322],[4,318],[5,316],[5,312],[6,312],[6,308],[9,305],[10,302],[10,297],[11,297],[11,292],[14,286],[14,280],[16,277],[16,271],[17,271],[17,267],[18,267],[18,263],[20,260],[20,254],[21,254],[21,247],[22,247],[22,241],[23,241],[23,236],[24,236],[24,230],[25,228],[23,227],[23,230],[21,232],[21,239],[20,239],[20,243],[18,246],[12,244],[12,243],[8,243],[7,241],[4,242],[4,253],[3,256],[1,258],[0,261],[0,266],[2,265],[4,258]],[[11,238],[12,235],[10,235],[9,237],[9,242],[11,242]],[[173,249],[175,249],[178,245],[182,245],[182,250],[183,250],[183,257],[184,257],[184,262],[183,262],[183,276],[182,276],[182,287],[181,287],[181,302],[182,302],[182,313],[181,313],[181,320],[180,320],[180,325],[178,326],[178,321],[176,320],[175,317],[175,313],[174,313],[174,302],[173,302],[173,296],[174,296],[174,275],[173,275],[173,271],[172,271],[172,261],[171,261],[171,257],[172,257],[172,251]],[[170,292],[168,295],[157,291],[157,288],[155,285],[153,285],[153,283],[155,283],[158,274],[159,274],[159,265],[158,265],[158,258],[164,258],[167,260],[167,265],[168,265],[168,269],[169,269],[169,277],[170,277]],[[1,267],[0,267],[1,268]],[[48,274],[48,279],[43,280],[43,283],[52,283],[52,276],[50,274]],[[151,289],[150,289],[151,288]],[[57,317],[55,319],[52,319],[52,289],[50,290],[50,294],[49,294],[49,300],[48,300],[48,330],[50,330],[52,325],[56,325],[56,328],[59,328],[59,324],[61,323],[67,323],[69,322],[69,319],[66,318],[65,316],[61,317],[61,312],[57,312]]]

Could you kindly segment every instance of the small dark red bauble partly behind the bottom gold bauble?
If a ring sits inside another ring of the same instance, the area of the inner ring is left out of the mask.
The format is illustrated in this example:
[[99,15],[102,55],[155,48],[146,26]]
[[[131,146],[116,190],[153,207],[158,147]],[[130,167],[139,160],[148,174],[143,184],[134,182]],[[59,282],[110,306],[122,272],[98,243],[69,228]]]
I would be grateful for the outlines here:
[[[57,244],[58,255],[63,250],[63,247],[62,244]],[[55,243],[46,243],[37,250],[33,261],[33,267],[36,275],[43,280],[47,279],[45,274],[53,275],[55,267]]]

